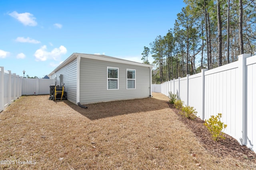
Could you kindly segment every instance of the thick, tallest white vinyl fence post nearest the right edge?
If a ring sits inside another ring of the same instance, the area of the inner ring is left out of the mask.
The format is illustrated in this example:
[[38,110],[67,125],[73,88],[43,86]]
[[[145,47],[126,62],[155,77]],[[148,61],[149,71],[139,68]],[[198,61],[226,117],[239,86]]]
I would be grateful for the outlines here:
[[247,145],[247,67],[246,58],[250,57],[250,54],[242,54],[238,56],[239,72],[240,72],[240,95],[242,99],[242,145]]

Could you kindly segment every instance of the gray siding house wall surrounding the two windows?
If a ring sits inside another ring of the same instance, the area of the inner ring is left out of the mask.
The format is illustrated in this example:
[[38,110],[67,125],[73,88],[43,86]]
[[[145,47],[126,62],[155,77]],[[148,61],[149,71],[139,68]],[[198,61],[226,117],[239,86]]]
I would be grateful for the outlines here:
[[[107,67],[118,68],[118,90],[107,90]],[[136,70],[136,89],[126,89],[126,69]],[[80,103],[147,98],[150,95],[150,68],[81,57]]]

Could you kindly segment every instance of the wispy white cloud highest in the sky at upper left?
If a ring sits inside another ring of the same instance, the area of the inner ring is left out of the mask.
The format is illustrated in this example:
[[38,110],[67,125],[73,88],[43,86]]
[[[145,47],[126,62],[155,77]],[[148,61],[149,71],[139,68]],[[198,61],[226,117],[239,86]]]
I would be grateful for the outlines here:
[[18,12],[14,11],[10,13],[9,16],[12,16],[13,18],[17,19],[18,21],[23,23],[23,25],[28,25],[28,26],[37,25],[37,22],[35,21],[36,18],[33,17],[33,14],[30,14],[29,12],[19,14]]

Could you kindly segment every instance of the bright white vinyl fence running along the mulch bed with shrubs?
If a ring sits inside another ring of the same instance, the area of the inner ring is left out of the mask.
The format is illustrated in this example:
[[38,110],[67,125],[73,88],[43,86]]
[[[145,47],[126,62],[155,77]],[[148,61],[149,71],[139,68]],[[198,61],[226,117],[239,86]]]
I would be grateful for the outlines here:
[[238,61],[161,84],[161,93],[172,92],[193,106],[205,120],[222,113],[225,133],[255,151],[256,55],[240,55]]

